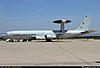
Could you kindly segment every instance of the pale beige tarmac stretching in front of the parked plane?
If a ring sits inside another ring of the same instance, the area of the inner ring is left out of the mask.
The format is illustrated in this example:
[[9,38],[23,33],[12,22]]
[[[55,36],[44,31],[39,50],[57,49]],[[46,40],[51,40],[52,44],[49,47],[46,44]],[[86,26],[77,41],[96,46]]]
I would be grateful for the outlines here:
[[0,66],[100,66],[100,40],[0,41]]

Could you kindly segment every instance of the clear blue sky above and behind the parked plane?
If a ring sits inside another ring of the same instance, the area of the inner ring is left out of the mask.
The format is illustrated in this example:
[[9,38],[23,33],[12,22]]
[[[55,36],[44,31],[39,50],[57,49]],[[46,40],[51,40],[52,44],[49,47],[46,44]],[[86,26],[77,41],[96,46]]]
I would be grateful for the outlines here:
[[0,0],[0,33],[14,30],[56,30],[54,20],[68,19],[75,29],[91,16],[89,29],[100,32],[100,0]]

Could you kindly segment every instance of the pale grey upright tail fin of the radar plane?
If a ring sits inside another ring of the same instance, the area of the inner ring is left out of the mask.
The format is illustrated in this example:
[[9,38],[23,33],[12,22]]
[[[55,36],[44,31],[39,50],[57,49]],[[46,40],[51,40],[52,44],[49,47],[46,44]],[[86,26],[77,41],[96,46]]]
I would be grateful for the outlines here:
[[88,30],[89,23],[90,23],[90,16],[85,16],[83,23],[78,28],[76,28],[76,30]]

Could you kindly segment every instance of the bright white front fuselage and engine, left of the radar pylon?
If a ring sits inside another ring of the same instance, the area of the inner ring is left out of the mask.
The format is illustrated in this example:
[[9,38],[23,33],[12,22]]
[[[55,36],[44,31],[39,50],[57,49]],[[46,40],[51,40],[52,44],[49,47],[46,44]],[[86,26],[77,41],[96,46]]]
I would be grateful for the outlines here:
[[45,39],[45,35],[48,38],[57,38],[56,34],[52,30],[31,30],[31,31],[10,31],[7,35],[33,35],[36,39]]

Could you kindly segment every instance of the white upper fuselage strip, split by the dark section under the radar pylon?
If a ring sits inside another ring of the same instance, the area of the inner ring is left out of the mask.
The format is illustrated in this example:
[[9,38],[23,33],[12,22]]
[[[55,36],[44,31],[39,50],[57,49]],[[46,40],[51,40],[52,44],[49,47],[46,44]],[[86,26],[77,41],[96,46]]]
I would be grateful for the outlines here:
[[[65,33],[79,34],[84,31],[85,30],[68,30]],[[7,34],[8,35],[10,35],[10,34],[55,35],[55,33],[52,30],[9,31],[9,32],[7,32]]]

